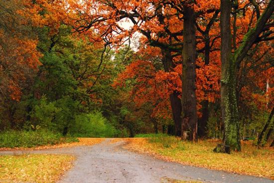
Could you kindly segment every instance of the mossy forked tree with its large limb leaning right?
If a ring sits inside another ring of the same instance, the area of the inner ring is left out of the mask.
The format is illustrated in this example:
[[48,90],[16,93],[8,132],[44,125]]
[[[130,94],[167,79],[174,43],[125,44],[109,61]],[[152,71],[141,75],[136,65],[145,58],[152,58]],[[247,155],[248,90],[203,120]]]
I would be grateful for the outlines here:
[[[222,119],[225,124],[224,142],[233,150],[241,150],[240,145],[240,127],[238,102],[236,97],[236,77],[238,68],[249,49],[259,39],[262,32],[267,31],[267,22],[274,11],[274,1],[267,2],[266,8],[262,14],[258,8],[257,2],[252,1],[257,13],[257,22],[254,27],[250,28],[245,34],[242,43],[232,52],[231,42],[231,8],[230,0],[221,0],[221,60],[222,60],[222,77],[221,77],[221,104]],[[256,5],[257,4],[257,5]],[[233,8],[238,8],[238,1],[234,1]]]

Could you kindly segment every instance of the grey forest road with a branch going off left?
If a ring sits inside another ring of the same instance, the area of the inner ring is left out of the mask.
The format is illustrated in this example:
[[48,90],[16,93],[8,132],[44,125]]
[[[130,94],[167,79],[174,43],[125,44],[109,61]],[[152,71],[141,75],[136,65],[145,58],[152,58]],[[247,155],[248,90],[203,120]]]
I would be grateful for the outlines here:
[[[125,142],[111,144],[107,139],[94,146],[17,151],[15,154],[73,154],[75,166],[59,183],[167,183],[168,179],[206,183],[274,183],[269,179],[242,176],[156,160],[122,148]],[[14,152],[0,152],[14,154]]]

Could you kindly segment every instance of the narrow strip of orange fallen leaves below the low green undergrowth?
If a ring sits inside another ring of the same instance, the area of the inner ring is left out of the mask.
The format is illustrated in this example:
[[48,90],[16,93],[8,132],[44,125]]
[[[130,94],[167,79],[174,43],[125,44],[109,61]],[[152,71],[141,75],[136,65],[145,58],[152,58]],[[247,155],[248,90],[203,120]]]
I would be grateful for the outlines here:
[[34,148],[0,148],[0,151],[12,151],[12,150],[43,150],[43,149],[54,149],[54,148],[68,148],[75,146],[92,146],[99,144],[104,141],[104,138],[78,138],[79,142],[62,143],[56,145],[38,146]]

